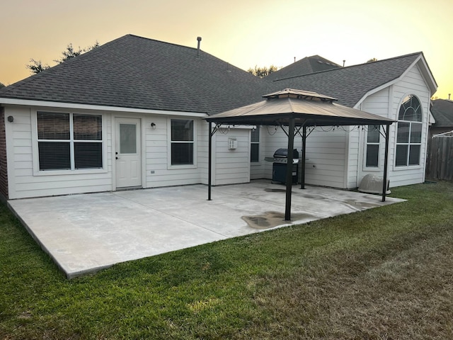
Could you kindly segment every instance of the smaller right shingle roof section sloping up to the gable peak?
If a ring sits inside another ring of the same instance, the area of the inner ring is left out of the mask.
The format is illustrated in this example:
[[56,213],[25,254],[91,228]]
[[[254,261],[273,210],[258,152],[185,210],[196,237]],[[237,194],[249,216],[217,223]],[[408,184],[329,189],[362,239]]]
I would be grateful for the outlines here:
[[421,52],[350,67],[276,80],[275,89],[304,89],[338,98],[338,103],[355,106],[368,91],[401,77]]

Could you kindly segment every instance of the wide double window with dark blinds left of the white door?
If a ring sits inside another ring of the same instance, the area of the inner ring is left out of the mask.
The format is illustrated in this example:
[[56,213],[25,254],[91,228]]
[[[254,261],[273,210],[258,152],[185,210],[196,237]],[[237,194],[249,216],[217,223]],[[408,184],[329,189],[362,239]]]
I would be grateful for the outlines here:
[[38,112],[39,169],[103,167],[102,115]]

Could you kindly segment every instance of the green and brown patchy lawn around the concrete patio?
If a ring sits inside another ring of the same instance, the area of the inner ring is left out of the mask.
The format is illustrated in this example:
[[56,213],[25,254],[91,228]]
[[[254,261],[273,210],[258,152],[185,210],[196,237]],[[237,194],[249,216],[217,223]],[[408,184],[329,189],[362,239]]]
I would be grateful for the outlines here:
[[0,339],[453,339],[453,183],[67,280],[0,207]]

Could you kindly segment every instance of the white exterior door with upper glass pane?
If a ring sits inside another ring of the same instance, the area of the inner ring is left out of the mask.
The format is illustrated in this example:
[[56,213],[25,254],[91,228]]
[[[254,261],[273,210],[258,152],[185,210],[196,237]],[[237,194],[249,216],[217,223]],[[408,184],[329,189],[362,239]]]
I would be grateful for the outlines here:
[[116,118],[116,187],[142,186],[140,120]]

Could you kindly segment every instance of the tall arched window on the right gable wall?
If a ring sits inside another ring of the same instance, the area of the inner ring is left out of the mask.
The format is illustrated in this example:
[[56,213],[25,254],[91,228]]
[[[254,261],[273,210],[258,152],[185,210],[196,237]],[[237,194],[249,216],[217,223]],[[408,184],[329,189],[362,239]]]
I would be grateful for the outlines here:
[[422,117],[418,98],[413,95],[404,98],[399,108],[396,127],[395,166],[420,165]]

